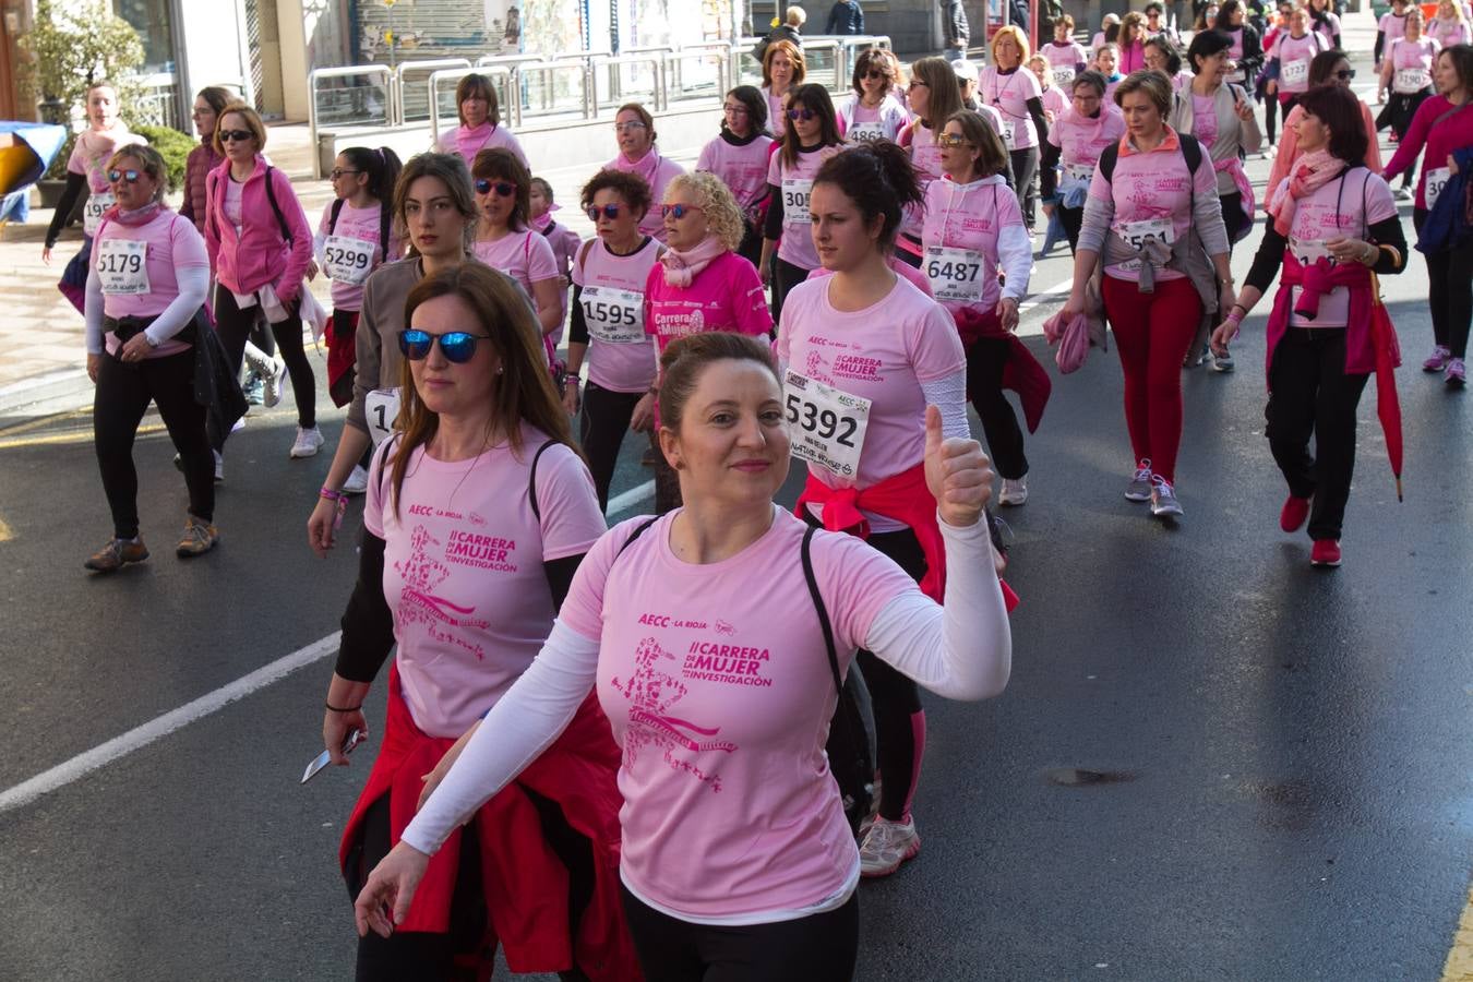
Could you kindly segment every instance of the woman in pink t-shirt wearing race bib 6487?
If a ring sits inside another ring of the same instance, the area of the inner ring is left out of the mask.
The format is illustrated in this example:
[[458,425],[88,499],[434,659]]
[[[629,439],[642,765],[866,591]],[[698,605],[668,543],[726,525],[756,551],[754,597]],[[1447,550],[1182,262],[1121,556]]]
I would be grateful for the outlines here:
[[[1028,458],[1018,417],[1003,396],[1003,377],[1009,362],[1015,372],[1041,372],[1013,336],[1018,305],[1028,296],[1033,243],[1003,178],[1008,156],[991,127],[963,109],[946,121],[940,140],[946,175],[927,188],[921,268],[966,346],[968,396],[1003,478],[997,502],[1022,505],[1028,501]],[[1005,284],[999,284],[999,271]]]

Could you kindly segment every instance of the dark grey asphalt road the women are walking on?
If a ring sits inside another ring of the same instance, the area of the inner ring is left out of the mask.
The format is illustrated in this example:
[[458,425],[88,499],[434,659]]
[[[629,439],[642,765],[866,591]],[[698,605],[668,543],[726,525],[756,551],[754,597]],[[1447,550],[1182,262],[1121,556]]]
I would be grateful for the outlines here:
[[[1066,278],[1055,252],[1034,287]],[[1439,976],[1473,857],[1473,395],[1417,371],[1420,258],[1385,289],[1408,361],[1407,499],[1367,396],[1336,571],[1277,529],[1261,317],[1237,372],[1184,375],[1175,527],[1121,498],[1114,352],[1053,372],[1033,499],[1006,512],[1013,679],[981,705],[929,699],[924,849],[862,888],[860,979]],[[306,549],[327,456],[287,459],[287,405],[233,437],[224,539],[191,562],[171,549],[172,448],[140,439],[155,558],[110,577],[81,568],[109,531],[85,414],[0,421],[0,795],[336,630],[355,559]],[[323,417],[331,446],[339,414]],[[648,480],[641,449],[616,493]],[[0,808],[0,979],[351,978],[336,847],[374,745],[296,783],[330,670]]]

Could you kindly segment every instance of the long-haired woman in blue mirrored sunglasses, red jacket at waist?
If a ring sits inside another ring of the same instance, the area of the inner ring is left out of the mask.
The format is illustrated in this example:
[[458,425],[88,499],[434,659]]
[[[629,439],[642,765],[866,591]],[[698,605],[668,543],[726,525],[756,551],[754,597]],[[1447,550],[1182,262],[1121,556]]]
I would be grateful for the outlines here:
[[[405,322],[401,430],[374,453],[323,717],[331,761],[348,764],[345,741],[367,733],[362,707],[395,649],[382,749],[339,849],[354,894],[414,817],[423,776],[532,664],[604,533],[516,286],[467,262],[418,283]],[[399,930],[359,941],[358,978],[489,975],[498,944],[527,972],[592,970],[579,963],[597,957],[610,978],[632,978],[619,749],[592,699],[564,721],[467,813]]]

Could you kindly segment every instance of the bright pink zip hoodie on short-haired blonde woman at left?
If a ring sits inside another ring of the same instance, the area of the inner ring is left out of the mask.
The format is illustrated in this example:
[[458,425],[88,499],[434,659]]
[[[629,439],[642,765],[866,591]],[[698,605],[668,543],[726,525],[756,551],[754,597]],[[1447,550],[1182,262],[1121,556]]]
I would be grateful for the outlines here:
[[[292,241],[281,239],[281,224],[267,199],[267,174],[277,208],[286,221]],[[256,155],[256,169],[246,178],[240,196],[245,224],[237,233],[225,218],[225,181],[230,181],[230,160],[209,172],[205,183],[205,244],[215,278],[231,293],[253,293],[271,284],[277,299],[289,303],[302,289],[306,264],[312,259],[312,230],[302,213],[302,205],[292,190],[292,181]]]

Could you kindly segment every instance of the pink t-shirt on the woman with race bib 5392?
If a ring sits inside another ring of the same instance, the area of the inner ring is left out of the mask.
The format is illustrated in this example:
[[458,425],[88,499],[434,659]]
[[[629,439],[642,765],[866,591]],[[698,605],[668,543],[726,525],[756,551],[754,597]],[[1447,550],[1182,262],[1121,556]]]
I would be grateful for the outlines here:
[[966,356],[952,315],[909,283],[897,280],[863,311],[835,309],[831,283],[809,280],[788,293],[776,350],[790,371],[871,400],[856,477],[809,468],[829,487],[869,487],[925,456],[921,383],[962,371]]

